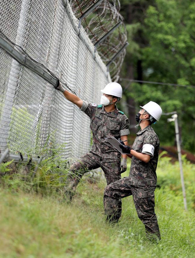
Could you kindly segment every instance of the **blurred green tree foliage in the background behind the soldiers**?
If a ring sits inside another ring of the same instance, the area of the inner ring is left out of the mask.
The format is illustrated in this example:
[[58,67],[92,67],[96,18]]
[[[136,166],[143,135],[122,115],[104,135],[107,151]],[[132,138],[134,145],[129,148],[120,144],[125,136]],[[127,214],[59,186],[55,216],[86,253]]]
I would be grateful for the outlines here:
[[[121,5],[129,40],[121,78],[195,85],[194,1],[121,1]],[[120,82],[128,86],[128,82]],[[137,110],[140,104],[155,101],[163,113],[177,111],[182,147],[195,152],[195,88],[131,83],[124,94],[127,102],[133,100]],[[175,129],[167,118],[162,116],[154,129],[161,143],[172,145]]]

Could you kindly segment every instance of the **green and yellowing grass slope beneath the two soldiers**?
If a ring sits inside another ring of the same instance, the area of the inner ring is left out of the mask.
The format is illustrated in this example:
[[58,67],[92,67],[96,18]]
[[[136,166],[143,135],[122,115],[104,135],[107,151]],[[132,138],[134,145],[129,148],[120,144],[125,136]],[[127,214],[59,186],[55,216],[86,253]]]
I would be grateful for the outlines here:
[[106,223],[104,180],[90,183],[86,177],[72,203],[67,204],[55,190],[29,192],[21,186],[26,182],[20,184],[22,180],[4,176],[0,188],[0,257],[195,257],[195,168],[185,160],[183,168],[188,211],[183,208],[178,163],[161,158],[158,164],[160,187],[155,190],[155,211],[162,237],[159,244],[146,238],[132,196],[123,199],[119,223]]

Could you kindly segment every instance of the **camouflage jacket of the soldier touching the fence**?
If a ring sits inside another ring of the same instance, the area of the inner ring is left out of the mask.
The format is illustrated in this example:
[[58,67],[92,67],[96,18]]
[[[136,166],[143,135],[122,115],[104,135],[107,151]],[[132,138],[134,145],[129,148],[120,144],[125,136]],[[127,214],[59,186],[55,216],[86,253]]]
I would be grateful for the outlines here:
[[[93,133],[93,145],[91,152],[104,159],[118,160],[121,155],[110,143],[106,142],[105,137],[116,137],[129,134],[129,119],[122,111],[115,106],[113,112],[106,112],[104,106],[88,104],[83,102],[81,111],[90,117],[90,128]],[[103,155],[102,155],[103,154]]]

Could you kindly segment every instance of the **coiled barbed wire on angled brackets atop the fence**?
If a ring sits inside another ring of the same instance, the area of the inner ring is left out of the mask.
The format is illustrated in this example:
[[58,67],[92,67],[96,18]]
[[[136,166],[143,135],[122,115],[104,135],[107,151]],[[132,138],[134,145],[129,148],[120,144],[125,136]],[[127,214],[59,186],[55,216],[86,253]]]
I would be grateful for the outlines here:
[[[72,0],[70,1],[73,13],[79,19],[97,0]],[[120,15],[119,0],[104,0],[90,14],[82,19],[82,26],[87,32],[92,43],[95,45],[107,32],[109,32],[119,22],[114,32],[105,38],[96,47],[102,61],[105,64],[120,51],[127,41],[127,32],[124,24],[123,16]],[[111,63],[109,71],[111,79],[117,81],[120,74],[120,68],[123,63],[126,50],[124,49],[120,55]]]

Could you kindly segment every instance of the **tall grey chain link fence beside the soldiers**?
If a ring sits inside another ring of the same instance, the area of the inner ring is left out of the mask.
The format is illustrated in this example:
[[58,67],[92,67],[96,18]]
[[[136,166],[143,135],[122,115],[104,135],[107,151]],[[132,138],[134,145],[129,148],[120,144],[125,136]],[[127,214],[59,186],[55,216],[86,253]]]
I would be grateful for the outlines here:
[[[63,158],[78,158],[89,151],[90,119],[35,71],[36,64],[81,99],[99,103],[110,74],[73,11],[65,0],[0,0],[1,153],[48,157],[59,148]],[[13,49],[32,69],[15,60]]]

